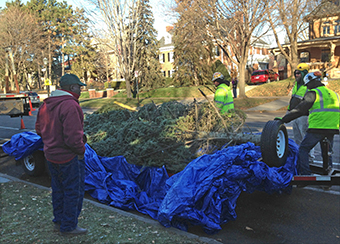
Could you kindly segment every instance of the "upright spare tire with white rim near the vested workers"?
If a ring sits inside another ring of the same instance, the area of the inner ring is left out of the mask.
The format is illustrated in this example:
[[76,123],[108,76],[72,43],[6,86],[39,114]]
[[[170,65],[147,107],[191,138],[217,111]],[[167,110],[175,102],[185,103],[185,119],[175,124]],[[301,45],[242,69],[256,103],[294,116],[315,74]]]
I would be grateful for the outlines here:
[[288,154],[288,133],[280,120],[268,121],[261,134],[263,162],[270,167],[280,167],[286,163]]

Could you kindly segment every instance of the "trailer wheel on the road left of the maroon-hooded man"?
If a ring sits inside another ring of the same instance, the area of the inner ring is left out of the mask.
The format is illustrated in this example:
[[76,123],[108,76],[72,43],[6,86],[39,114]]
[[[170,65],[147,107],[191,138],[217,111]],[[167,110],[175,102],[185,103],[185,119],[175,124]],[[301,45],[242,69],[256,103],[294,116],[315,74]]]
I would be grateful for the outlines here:
[[35,151],[20,161],[25,173],[29,176],[41,176],[46,172],[46,159],[43,151]]

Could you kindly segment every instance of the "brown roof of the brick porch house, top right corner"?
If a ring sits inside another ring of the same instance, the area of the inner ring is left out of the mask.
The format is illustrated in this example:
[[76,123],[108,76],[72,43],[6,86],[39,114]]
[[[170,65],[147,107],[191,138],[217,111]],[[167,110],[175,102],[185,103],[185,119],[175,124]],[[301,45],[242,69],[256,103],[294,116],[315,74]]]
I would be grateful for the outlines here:
[[340,16],[340,0],[323,0],[319,6],[304,17],[304,20],[310,21],[330,16]]

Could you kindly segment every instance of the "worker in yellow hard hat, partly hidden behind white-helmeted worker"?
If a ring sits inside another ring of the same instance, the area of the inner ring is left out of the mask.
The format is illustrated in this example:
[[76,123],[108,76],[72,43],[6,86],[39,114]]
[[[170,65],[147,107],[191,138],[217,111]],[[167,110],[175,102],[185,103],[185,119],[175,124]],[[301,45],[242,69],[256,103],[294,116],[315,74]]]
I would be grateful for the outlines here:
[[[294,71],[295,84],[292,90],[292,97],[289,101],[288,112],[294,109],[303,99],[307,92],[307,86],[303,82],[303,78],[307,75],[309,71],[309,65],[306,63],[298,64],[296,70]],[[305,115],[300,116],[292,121],[294,141],[298,146],[300,146],[303,138],[306,135],[308,129],[308,111]],[[309,153],[309,162],[313,163],[314,149]]]

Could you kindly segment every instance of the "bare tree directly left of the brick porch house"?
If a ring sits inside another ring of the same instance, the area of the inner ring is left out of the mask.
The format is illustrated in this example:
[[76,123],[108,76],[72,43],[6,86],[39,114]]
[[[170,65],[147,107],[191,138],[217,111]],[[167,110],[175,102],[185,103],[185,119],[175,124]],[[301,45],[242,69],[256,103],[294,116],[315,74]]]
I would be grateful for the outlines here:
[[[300,60],[298,41],[307,38],[308,25],[303,18],[320,2],[321,0],[278,0],[275,11],[268,11],[268,22],[273,30],[277,46],[292,70],[296,69]],[[284,30],[289,45],[285,47],[281,45],[277,29]]]

